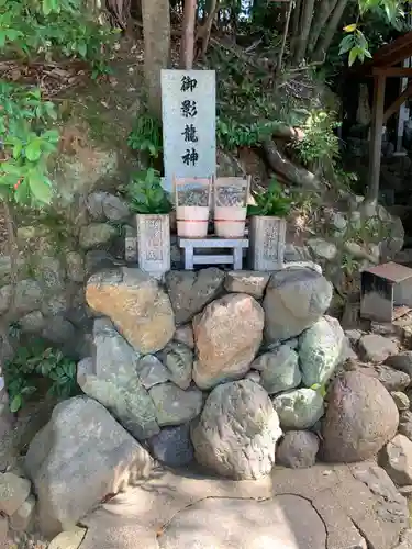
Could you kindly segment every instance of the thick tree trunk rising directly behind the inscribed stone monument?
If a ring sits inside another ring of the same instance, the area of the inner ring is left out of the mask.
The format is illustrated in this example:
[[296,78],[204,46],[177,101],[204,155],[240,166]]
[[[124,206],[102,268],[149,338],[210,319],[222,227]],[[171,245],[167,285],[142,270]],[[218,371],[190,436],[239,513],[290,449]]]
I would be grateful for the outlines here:
[[145,42],[145,82],[151,112],[162,117],[160,69],[170,56],[170,12],[168,0],[142,0]]

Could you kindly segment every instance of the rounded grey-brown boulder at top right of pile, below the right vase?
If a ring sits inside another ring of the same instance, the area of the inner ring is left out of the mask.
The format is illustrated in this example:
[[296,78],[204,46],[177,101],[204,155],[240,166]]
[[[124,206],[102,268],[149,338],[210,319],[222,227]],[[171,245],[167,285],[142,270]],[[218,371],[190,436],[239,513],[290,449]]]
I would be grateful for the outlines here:
[[264,300],[266,340],[300,335],[325,313],[332,293],[331,283],[311,269],[285,269],[271,274]]

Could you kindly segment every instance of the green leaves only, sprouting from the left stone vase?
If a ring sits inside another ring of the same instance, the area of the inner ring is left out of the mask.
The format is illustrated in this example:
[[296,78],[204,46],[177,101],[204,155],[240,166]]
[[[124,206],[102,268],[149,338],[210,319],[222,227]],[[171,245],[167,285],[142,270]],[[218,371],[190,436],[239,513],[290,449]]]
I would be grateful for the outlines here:
[[126,197],[134,213],[164,214],[171,211],[171,203],[159,172],[153,168],[136,173],[126,188]]

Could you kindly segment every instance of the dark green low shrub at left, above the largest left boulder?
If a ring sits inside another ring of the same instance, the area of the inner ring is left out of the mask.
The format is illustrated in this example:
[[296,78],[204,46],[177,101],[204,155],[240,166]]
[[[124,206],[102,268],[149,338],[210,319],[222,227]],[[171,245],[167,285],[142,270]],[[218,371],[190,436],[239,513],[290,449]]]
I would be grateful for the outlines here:
[[20,346],[14,359],[5,363],[4,376],[13,413],[38,390],[42,378],[49,381],[48,395],[68,399],[78,392],[76,362],[60,350],[45,347],[42,341],[30,347]]

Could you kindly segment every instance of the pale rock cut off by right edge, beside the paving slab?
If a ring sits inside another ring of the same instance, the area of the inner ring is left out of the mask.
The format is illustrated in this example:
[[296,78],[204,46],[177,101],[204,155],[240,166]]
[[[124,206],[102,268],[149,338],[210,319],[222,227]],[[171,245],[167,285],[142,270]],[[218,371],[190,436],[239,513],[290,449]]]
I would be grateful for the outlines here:
[[412,484],[412,441],[397,435],[381,450],[379,464],[399,486]]

